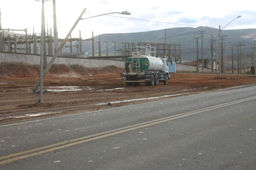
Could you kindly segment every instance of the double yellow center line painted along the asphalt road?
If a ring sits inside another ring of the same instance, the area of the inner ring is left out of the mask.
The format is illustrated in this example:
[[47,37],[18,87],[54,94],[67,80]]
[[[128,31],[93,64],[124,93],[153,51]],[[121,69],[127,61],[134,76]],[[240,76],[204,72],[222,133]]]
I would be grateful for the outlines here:
[[[70,141],[64,141],[64,142],[60,142],[60,143],[56,143],[56,144],[52,144],[52,145],[38,147],[36,149],[27,150],[27,151],[24,151],[24,152],[10,154],[8,156],[0,157],[0,160],[6,159],[6,160],[3,160],[3,161],[0,161],[0,165],[6,164],[6,163],[12,162],[12,161],[20,160],[20,159],[25,159],[25,158],[37,156],[39,154],[44,154],[44,153],[47,153],[47,152],[52,152],[52,151],[64,149],[66,147],[86,143],[86,142],[89,142],[89,141],[95,141],[97,139],[101,139],[101,138],[105,138],[105,137],[109,137],[109,136],[113,136],[113,135],[117,135],[117,134],[122,134],[122,133],[127,132],[127,131],[148,127],[150,125],[160,124],[160,123],[163,123],[163,122],[180,119],[182,117],[207,112],[207,111],[210,111],[210,110],[214,110],[214,109],[218,109],[218,108],[222,108],[222,107],[226,107],[226,106],[230,106],[230,105],[239,104],[241,102],[245,102],[245,101],[253,100],[253,99],[256,99],[256,96],[251,97],[251,98],[241,99],[241,100],[234,101],[234,102],[229,102],[229,103],[222,104],[222,105],[217,105],[217,106],[212,106],[212,107],[208,107],[208,108],[198,109],[198,110],[194,110],[194,111],[191,111],[191,112],[186,112],[186,113],[181,113],[181,114],[177,114],[177,115],[167,116],[167,117],[163,117],[161,119],[156,119],[156,120],[153,120],[153,121],[148,121],[148,122],[143,122],[143,123],[139,123],[139,124],[129,125],[127,127],[113,129],[113,130],[109,130],[109,131],[106,131],[106,132],[101,132],[101,133],[98,133],[98,134],[89,135],[89,136],[85,136],[85,137],[80,137],[80,138],[72,139]],[[34,152],[34,153],[32,153],[32,152]],[[21,155],[23,155],[23,156],[21,156]],[[15,158],[13,158],[13,157],[15,157]],[[10,159],[8,159],[8,158],[10,158]]]

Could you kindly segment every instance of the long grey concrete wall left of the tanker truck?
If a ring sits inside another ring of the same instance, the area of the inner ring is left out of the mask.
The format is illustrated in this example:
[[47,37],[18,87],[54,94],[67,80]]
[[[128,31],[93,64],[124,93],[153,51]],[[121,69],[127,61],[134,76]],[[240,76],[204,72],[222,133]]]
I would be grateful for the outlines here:
[[[52,57],[47,56],[47,63],[51,61]],[[40,64],[40,56],[39,55],[23,55],[23,54],[8,54],[8,53],[0,53],[0,63],[3,62],[12,62],[19,63],[23,62],[26,64]],[[95,60],[95,59],[87,59],[87,58],[65,58],[65,57],[57,57],[54,61],[54,64],[79,64],[83,65],[86,68],[100,68],[107,65],[115,65],[120,68],[124,68],[123,61],[116,60]]]

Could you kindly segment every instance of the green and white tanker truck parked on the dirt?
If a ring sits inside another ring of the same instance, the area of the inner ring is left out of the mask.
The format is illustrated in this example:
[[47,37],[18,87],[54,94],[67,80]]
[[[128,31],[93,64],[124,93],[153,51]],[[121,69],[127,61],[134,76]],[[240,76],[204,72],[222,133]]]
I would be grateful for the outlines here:
[[125,61],[126,72],[121,73],[121,82],[126,82],[127,86],[139,86],[146,83],[148,86],[158,85],[163,82],[168,84],[170,79],[170,63],[167,58],[155,56],[154,47],[137,47]]

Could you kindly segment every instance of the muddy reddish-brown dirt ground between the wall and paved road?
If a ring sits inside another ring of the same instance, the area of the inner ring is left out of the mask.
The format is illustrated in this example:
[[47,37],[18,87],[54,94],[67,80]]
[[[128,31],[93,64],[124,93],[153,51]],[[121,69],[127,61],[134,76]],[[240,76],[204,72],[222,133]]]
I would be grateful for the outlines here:
[[172,73],[168,85],[126,86],[123,69],[68,68],[55,65],[44,78],[43,104],[31,89],[39,66],[0,65],[0,123],[31,117],[71,114],[120,107],[227,87],[255,84],[256,76]]

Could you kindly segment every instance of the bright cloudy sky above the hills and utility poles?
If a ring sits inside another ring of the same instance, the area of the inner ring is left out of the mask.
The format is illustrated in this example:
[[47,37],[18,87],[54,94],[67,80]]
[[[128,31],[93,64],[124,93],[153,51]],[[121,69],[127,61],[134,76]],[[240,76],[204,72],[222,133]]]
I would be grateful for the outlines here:
[[[52,0],[45,0],[46,29],[53,34]],[[29,34],[40,33],[41,0],[0,0],[2,28],[28,29]],[[110,12],[128,11],[131,15],[111,14],[80,20],[72,32],[72,38],[82,39],[106,33],[145,32],[164,28],[209,26],[225,29],[256,28],[255,0],[56,0],[57,31],[59,38],[65,38],[78,19]],[[114,17],[113,17],[114,16]],[[119,18],[124,17],[124,18]],[[147,20],[147,21],[145,21]],[[19,32],[22,33],[22,32]]]

